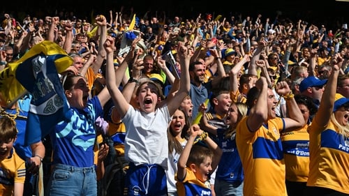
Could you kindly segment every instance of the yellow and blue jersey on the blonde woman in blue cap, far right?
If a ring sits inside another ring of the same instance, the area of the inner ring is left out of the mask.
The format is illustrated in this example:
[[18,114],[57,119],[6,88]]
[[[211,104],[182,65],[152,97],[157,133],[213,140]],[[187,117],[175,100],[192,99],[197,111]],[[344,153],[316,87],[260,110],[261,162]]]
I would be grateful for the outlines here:
[[339,134],[332,121],[325,127],[313,121],[308,132],[311,160],[307,186],[349,194],[349,138]]

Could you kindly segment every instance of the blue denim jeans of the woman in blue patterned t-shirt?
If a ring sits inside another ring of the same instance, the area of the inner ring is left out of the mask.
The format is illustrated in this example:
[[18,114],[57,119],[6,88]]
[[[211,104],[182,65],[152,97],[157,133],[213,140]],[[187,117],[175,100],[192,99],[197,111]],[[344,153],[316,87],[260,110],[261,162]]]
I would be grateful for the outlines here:
[[97,176],[94,166],[54,165],[50,181],[45,188],[45,195],[96,196]]

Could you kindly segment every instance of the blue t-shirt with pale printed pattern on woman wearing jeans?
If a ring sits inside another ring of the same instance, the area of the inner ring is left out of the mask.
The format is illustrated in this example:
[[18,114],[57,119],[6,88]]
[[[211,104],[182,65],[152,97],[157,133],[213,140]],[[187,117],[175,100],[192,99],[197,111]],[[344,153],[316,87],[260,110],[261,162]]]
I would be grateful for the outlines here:
[[70,121],[61,121],[50,132],[53,148],[53,164],[61,163],[73,167],[94,165],[94,142],[96,130],[94,122],[103,108],[97,96],[87,103],[84,110],[70,108]]

